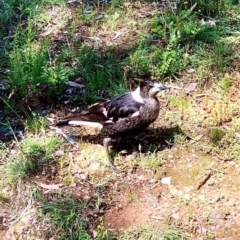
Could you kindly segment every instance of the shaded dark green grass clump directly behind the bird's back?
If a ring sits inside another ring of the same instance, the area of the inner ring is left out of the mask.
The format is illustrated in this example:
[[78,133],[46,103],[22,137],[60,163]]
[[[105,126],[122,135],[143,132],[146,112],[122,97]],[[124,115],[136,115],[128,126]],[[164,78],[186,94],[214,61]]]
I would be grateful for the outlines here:
[[[100,54],[87,45],[78,53],[79,74],[88,83],[85,102],[94,102],[104,97],[114,96],[126,91],[125,76],[121,70],[121,61],[111,51]],[[103,94],[98,92],[103,91]]]

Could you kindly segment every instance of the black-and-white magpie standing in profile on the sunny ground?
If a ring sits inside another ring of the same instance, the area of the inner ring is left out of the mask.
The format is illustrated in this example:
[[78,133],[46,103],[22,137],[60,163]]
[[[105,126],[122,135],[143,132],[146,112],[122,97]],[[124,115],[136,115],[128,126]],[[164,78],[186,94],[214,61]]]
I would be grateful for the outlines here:
[[153,123],[160,110],[156,95],[167,88],[156,80],[144,80],[134,91],[113,97],[105,102],[95,103],[82,113],[59,120],[56,125],[99,128],[108,165],[116,171],[109,154],[112,141],[122,136],[135,136]]

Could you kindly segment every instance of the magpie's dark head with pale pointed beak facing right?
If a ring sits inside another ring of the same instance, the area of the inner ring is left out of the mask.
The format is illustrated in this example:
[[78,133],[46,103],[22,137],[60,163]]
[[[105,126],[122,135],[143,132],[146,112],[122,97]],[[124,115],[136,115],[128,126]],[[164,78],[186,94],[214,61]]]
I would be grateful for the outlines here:
[[165,89],[168,89],[168,87],[152,80],[146,80],[140,83],[140,92],[144,96],[155,97],[158,94],[158,92]]

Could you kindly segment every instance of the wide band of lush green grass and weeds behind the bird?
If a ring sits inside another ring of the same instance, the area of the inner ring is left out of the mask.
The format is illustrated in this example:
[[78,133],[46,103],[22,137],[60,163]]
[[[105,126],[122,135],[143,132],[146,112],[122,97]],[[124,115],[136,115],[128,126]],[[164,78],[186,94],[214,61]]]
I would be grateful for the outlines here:
[[[106,17],[108,20],[100,22],[95,20],[97,9],[88,14],[85,13],[84,6],[79,6],[71,23],[72,39],[69,38],[68,43],[62,44],[60,53],[55,53],[54,44],[50,41],[51,35],[44,38],[38,36],[43,33],[44,26],[52,22],[51,15],[44,11],[44,6],[56,4],[56,1],[43,0],[38,4],[38,13],[35,13],[36,4],[28,6],[28,1],[21,3],[12,0],[8,6],[7,3],[3,4],[12,12],[9,15],[21,6],[23,16],[28,16],[27,26],[16,28],[13,47],[6,47],[6,55],[9,56],[7,77],[11,87],[20,96],[35,95],[44,89],[46,95],[60,98],[66,82],[72,77],[80,76],[87,82],[87,88],[79,98],[82,102],[92,103],[124,92],[127,76],[173,77],[189,66],[199,68],[201,79],[211,69],[225,71],[234,59],[231,44],[225,41],[229,24],[222,19],[213,26],[203,23],[197,11],[185,9],[185,3],[175,14],[168,10],[155,14],[151,21],[142,26],[143,31],[150,31],[142,33],[140,41],[123,58],[108,47],[95,50],[89,44],[80,45],[74,37],[79,24],[91,23],[90,33],[106,24],[111,25],[111,16],[116,14],[112,8],[120,2],[114,1],[106,7],[106,11],[109,11],[109,16]],[[59,8],[61,17],[58,16],[60,26],[56,26],[55,31],[68,24],[64,17],[65,5],[62,2],[59,4],[62,4]],[[128,8],[125,2],[122,4],[123,9]],[[231,6],[230,1],[223,1],[222,4]],[[198,10],[203,8],[202,12],[208,12],[206,9],[209,7],[203,0],[197,5]],[[214,4],[214,14],[221,15],[220,8],[222,5],[220,7],[217,3]],[[128,12],[134,16],[132,9]],[[188,54],[189,44],[192,47],[191,54]],[[73,62],[74,67],[71,66]]]

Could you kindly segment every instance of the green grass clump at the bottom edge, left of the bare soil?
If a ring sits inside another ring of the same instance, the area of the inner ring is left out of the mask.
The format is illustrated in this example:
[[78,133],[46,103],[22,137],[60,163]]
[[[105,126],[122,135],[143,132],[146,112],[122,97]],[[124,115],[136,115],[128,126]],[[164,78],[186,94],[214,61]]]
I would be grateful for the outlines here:
[[86,203],[70,197],[60,197],[41,204],[42,217],[49,218],[56,226],[56,235],[60,239],[88,240],[86,221],[83,219]]

